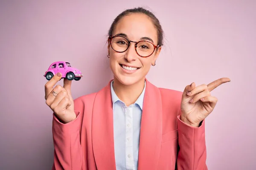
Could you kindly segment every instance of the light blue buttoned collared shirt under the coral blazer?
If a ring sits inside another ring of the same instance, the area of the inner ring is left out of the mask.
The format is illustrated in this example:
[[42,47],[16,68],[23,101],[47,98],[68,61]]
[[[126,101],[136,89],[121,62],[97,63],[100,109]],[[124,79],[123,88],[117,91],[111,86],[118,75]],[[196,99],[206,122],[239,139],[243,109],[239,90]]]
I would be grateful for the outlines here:
[[111,82],[116,170],[137,170],[138,168],[140,122],[145,87],[146,82],[137,101],[126,106],[116,96],[113,81]]

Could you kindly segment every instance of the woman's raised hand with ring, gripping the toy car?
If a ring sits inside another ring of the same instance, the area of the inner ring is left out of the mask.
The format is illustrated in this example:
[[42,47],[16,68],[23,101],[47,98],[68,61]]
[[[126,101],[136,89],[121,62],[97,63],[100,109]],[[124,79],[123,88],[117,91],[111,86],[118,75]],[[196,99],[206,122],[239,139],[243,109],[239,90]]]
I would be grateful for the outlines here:
[[[61,73],[55,74],[45,84],[46,104],[52,109],[62,123],[68,123],[76,119],[74,100],[71,96],[71,80],[64,79],[64,86],[55,84],[61,79]],[[54,93],[56,92],[56,93]]]

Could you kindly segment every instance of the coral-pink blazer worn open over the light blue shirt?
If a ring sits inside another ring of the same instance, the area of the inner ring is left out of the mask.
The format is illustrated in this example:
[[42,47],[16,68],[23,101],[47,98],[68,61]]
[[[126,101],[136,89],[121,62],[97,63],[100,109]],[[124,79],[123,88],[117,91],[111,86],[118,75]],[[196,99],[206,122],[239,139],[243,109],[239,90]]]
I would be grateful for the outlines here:
[[[110,82],[74,100],[72,122],[62,124],[53,114],[53,170],[116,170]],[[204,121],[186,125],[180,120],[182,92],[146,84],[138,170],[207,170]]]

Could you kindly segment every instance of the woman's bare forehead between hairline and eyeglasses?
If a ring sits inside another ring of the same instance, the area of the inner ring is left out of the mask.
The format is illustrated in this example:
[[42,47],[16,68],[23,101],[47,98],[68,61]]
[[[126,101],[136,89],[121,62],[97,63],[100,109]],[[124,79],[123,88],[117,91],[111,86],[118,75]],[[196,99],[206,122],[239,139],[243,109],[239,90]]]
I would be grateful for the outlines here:
[[138,41],[141,37],[149,37],[157,42],[157,30],[151,19],[145,14],[130,14],[122,17],[113,30],[116,34],[126,34],[129,40]]

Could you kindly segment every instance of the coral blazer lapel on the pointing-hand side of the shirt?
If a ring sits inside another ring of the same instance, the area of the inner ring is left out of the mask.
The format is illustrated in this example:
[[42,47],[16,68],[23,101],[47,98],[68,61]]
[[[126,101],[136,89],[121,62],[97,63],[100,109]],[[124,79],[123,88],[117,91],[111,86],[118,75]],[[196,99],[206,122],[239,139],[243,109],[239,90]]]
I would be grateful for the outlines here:
[[155,170],[162,141],[162,102],[160,91],[146,79],[140,129],[138,170]]

